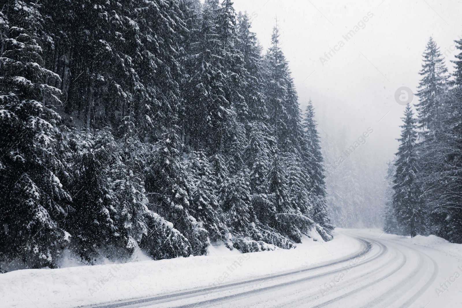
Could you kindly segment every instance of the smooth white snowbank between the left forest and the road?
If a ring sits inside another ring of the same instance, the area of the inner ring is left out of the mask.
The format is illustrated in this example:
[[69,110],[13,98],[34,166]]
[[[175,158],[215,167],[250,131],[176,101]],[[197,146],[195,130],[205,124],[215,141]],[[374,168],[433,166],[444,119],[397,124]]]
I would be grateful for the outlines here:
[[330,242],[303,238],[297,248],[241,254],[213,246],[208,256],[123,264],[18,270],[0,275],[2,307],[67,308],[227,284],[328,262],[361,243],[335,233]]

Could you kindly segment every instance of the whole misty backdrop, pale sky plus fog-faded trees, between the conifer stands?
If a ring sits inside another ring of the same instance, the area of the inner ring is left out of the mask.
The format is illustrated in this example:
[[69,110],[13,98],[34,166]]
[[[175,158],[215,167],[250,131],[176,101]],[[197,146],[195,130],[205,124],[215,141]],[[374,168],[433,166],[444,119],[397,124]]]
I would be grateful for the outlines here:
[[[249,13],[264,50],[277,18],[301,108],[310,99],[315,107],[334,224],[382,227],[389,195],[385,177],[405,109],[396,103],[395,91],[407,86],[416,92],[430,36],[453,72],[462,2],[235,0],[234,6]],[[356,30],[353,37],[346,36],[350,30]],[[373,133],[365,144],[340,163],[342,152],[368,128]]]

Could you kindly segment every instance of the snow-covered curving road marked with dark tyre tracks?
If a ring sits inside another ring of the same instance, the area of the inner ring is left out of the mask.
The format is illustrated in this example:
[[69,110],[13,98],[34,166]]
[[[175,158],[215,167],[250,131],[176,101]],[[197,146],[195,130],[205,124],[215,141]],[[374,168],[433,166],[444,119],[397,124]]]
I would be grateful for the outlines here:
[[462,307],[460,286],[452,288],[456,293],[435,293],[435,288],[457,270],[454,259],[444,252],[385,239],[386,236],[370,236],[360,230],[342,232],[361,242],[362,248],[333,262],[217,288],[91,307]]

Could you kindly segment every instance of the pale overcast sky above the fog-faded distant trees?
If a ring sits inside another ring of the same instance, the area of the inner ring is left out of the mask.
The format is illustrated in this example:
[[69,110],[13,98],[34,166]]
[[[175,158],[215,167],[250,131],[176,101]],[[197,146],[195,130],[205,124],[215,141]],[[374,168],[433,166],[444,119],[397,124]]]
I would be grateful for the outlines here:
[[[311,98],[320,133],[334,140],[347,131],[353,142],[373,127],[368,147],[377,163],[397,150],[405,107],[395,102],[395,91],[407,86],[415,93],[429,37],[442,52],[462,37],[462,2],[456,0],[235,0],[234,6],[253,17],[265,49],[277,16],[302,108]],[[357,32],[346,41],[350,30]],[[324,53],[334,47],[328,59]]]

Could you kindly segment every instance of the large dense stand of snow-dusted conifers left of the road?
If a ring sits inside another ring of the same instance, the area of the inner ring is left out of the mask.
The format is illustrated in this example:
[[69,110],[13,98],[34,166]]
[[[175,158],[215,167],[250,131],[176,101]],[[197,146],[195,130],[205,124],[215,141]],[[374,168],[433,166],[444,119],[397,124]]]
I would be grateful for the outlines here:
[[332,238],[312,105],[231,0],[6,0],[0,258]]

